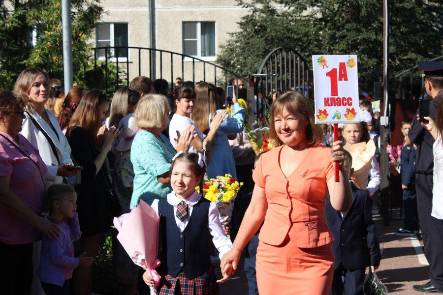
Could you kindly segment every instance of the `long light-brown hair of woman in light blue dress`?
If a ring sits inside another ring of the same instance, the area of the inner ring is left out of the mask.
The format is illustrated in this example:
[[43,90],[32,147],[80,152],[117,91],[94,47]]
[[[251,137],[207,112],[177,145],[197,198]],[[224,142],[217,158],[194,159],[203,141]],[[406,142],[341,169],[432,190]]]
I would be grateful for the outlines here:
[[192,121],[203,133],[209,131],[209,114],[217,111],[217,89],[214,85],[201,82],[195,87],[195,107],[190,115]]

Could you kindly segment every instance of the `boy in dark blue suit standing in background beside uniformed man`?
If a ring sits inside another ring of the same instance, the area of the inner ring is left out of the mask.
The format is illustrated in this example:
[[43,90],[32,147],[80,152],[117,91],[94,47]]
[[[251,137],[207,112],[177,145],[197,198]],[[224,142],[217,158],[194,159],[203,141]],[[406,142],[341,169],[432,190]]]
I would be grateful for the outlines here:
[[412,120],[402,122],[403,140],[400,155],[400,175],[402,177],[403,207],[405,208],[405,227],[394,232],[395,236],[415,236],[418,230],[417,194],[415,193],[415,148],[406,144],[406,136],[411,130]]

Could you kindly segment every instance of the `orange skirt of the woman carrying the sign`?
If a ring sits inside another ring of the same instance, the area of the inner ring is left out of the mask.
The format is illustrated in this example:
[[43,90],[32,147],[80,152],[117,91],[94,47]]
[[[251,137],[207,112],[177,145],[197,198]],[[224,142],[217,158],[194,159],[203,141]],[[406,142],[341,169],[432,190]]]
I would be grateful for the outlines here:
[[286,236],[279,246],[259,241],[255,268],[260,295],[328,295],[334,255],[330,244],[298,248]]

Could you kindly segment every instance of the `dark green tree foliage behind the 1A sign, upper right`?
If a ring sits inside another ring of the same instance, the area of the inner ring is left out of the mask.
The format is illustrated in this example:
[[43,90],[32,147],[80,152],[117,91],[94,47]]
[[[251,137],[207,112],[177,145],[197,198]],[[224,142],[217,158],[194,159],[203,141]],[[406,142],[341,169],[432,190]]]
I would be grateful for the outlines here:
[[[222,46],[218,57],[222,66],[248,75],[273,48],[287,47],[307,60],[314,54],[356,54],[359,81],[367,88],[381,82],[381,0],[238,0],[238,4],[250,13]],[[443,54],[442,15],[440,0],[389,1],[390,73]]]

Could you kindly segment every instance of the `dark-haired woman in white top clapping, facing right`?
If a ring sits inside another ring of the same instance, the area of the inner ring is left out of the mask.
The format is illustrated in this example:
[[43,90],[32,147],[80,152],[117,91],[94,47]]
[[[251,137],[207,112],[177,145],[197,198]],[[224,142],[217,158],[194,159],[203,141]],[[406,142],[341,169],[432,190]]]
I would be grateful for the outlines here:
[[[207,133],[206,137],[203,133],[197,128],[194,121],[190,118],[190,115],[195,109],[195,92],[193,89],[182,86],[177,89],[174,89],[174,99],[175,106],[177,108],[174,116],[172,116],[171,121],[169,122],[169,141],[175,148],[175,141],[177,140],[177,131],[182,132],[183,129],[187,128],[190,125],[195,126],[195,132],[197,133],[197,137],[194,138],[191,142],[191,146],[189,148],[189,152],[194,153],[204,153],[204,149],[210,149],[211,144],[214,138],[217,135],[217,131],[220,128],[221,120],[213,120],[211,122],[211,128]],[[224,117],[226,115],[226,111],[221,112],[217,116]]]

